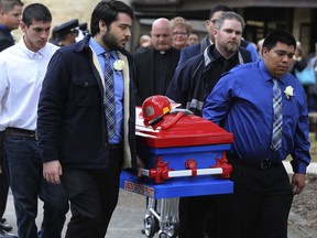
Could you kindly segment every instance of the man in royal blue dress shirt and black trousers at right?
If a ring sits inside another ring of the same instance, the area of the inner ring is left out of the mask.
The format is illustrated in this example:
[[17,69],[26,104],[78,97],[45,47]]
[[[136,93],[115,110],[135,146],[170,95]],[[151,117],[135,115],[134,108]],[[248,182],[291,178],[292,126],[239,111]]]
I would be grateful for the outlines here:
[[[293,195],[305,187],[310,162],[308,110],[300,83],[287,73],[296,48],[294,36],[276,30],[263,43],[263,61],[240,65],[208,96],[203,116],[233,132],[229,162],[233,195],[221,199],[222,237],[286,238]],[[282,97],[282,143],[274,149],[273,82]],[[291,154],[291,183],[282,161]]]

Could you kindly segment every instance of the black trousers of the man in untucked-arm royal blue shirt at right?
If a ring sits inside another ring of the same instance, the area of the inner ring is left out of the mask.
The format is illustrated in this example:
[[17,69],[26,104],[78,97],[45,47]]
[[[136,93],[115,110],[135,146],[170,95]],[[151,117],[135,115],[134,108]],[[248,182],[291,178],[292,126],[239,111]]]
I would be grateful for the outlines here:
[[219,199],[220,238],[287,238],[293,202],[283,163],[260,170],[229,160],[233,194]]

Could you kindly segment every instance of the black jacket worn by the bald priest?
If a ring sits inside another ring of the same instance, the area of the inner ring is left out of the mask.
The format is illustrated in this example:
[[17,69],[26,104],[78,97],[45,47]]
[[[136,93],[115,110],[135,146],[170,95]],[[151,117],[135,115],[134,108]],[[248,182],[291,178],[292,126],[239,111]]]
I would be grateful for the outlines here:
[[[162,72],[155,72],[155,50],[151,48],[149,51],[139,53],[134,55],[135,64],[135,87],[136,87],[136,105],[141,106],[142,102],[150,96],[162,94],[155,89],[155,77],[161,76],[165,95],[171,79],[175,73],[176,66],[178,64],[181,51],[176,48],[170,48],[165,52],[166,54],[166,72],[163,75]],[[156,77],[157,78],[157,77]]]

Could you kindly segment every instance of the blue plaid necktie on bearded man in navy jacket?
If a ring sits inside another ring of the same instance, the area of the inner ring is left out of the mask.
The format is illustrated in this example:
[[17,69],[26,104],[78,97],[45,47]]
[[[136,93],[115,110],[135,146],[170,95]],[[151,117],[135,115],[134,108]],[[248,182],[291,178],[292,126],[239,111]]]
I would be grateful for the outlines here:
[[111,139],[116,134],[116,104],[114,104],[114,79],[110,65],[110,53],[105,52],[105,106],[106,120],[108,126],[108,137]]

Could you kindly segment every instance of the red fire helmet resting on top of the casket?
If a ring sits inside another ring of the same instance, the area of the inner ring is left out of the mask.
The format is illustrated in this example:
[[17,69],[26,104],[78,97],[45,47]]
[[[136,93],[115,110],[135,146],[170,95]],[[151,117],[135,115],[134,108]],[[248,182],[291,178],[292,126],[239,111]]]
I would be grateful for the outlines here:
[[170,100],[162,95],[146,98],[142,104],[142,113],[145,126],[154,126],[172,109]]

